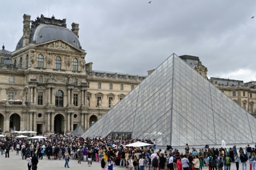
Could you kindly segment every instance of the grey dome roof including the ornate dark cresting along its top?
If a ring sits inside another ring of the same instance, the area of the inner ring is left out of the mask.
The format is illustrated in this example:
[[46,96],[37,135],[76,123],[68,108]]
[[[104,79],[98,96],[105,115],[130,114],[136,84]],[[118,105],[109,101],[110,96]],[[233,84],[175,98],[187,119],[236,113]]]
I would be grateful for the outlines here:
[[[46,41],[54,39],[62,39],[67,43],[73,45],[76,48],[81,48],[80,42],[74,32],[66,28],[66,19],[63,19],[62,23],[59,20],[50,18],[37,18],[36,21],[32,21],[31,30],[30,30],[30,39],[29,44],[40,44]],[[50,21],[55,21],[55,24],[52,24]],[[64,24],[63,24],[64,22]],[[19,40],[16,50],[23,47],[23,36]]]

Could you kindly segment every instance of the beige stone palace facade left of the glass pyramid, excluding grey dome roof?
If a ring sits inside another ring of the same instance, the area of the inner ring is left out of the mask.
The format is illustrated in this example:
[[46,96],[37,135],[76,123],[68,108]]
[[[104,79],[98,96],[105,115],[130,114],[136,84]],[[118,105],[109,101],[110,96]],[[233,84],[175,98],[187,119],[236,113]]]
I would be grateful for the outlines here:
[[[29,32],[33,29],[41,24],[66,29],[66,19],[41,15],[32,22],[31,30],[27,22],[30,15],[23,15],[23,19],[23,45],[18,43],[12,53],[4,47],[0,51],[2,133],[70,133],[79,124],[88,129],[146,78],[92,70],[92,63],[85,62],[85,50],[63,40],[65,37],[31,42],[35,35]],[[71,29],[77,38],[78,25],[73,23]]]

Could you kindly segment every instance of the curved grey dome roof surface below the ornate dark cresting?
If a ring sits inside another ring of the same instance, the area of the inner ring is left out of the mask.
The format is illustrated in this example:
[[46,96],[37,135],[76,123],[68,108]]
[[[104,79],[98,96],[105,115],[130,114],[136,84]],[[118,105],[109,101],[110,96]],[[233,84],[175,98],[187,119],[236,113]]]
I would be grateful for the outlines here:
[[[51,24],[39,24],[31,28],[29,43],[40,44],[46,41],[62,39],[76,48],[81,48],[80,42],[76,35],[65,27]],[[22,48],[23,36],[19,40],[16,50]]]

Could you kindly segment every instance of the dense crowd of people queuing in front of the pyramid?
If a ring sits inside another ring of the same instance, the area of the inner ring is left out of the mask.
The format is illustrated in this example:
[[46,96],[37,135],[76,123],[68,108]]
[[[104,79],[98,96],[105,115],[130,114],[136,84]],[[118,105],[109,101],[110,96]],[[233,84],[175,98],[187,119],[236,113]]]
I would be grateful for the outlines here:
[[250,169],[255,170],[256,151],[249,145],[245,150],[236,146],[232,148],[209,148],[205,146],[198,151],[196,148],[185,147],[184,152],[167,146],[163,151],[156,150],[156,141],[142,140],[149,143],[147,147],[125,147],[135,142],[130,139],[112,139],[95,137],[84,139],[77,135],[72,137],[67,134],[52,134],[46,139],[30,140],[28,138],[10,137],[2,138],[0,142],[1,155],[9,158],[10,151],[23,160],[27,160],[28,169],[37,169],[38,159],[63,159],[65,167],[69,168],[69,160],[76,160],[78,164],[86,162],[91,166],[93,162],[99,162],[102,170],[113,170],[114,166],[126,167],[131,170],[199,170],[208,167],[209,170],[230,170],[235,163],[237,170],[239,163],[246,170],[247,162]]

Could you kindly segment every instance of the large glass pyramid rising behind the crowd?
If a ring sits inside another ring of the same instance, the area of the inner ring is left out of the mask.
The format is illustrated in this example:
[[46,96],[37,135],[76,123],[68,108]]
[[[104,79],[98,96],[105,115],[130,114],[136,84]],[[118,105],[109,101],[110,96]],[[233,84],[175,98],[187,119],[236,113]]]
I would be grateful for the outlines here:
[[172,54],[82,137],[131,133],[158,146],[255,143],[255,118]]

